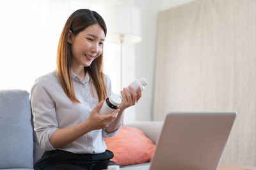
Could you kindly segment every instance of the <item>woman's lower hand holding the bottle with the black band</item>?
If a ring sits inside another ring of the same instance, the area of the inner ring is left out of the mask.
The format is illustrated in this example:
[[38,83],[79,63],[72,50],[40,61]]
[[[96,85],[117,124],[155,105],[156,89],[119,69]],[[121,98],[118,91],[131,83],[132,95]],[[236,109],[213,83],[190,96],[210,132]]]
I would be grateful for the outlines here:
[[88,124],[90,124],[92,130],[106,128],[116,119],[116,114],[118,113],[119,109],[106,115],[99,114],[99,110],[103,103],[104,101],[101,101],[99,104],[97,104],[95,108],[93,108],[90,117],[88,118]]

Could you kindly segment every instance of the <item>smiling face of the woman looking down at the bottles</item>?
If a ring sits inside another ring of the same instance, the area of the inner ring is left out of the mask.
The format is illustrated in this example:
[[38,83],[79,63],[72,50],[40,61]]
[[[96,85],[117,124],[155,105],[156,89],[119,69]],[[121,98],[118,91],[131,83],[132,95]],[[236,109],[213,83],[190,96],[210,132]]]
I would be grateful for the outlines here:
[[71,67],[88,67],[102,53],[105,33],[99,24],[86,27],[76,36],[68,33],[71,44]]

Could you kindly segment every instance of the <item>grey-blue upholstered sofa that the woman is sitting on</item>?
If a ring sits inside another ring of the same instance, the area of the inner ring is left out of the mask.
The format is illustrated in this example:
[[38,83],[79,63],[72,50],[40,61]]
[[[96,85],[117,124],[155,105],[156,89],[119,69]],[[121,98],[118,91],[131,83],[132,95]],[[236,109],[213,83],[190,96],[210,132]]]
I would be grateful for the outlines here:
[[[31,124],[29,93],[25,90],[0,90],[0,169],[33,169],[43,151]],[[141,129],[156,143],[163,122],[127,124]],[[139,166],[139,165],[136,165]]]

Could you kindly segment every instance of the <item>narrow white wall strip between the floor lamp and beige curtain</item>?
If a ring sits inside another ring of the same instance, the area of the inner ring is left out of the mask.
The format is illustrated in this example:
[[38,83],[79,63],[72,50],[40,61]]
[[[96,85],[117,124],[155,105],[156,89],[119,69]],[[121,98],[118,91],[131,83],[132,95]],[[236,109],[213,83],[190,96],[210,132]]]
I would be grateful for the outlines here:
[[140,0],[134,5],[141,10],[141,36],[142,41],[135,48],[135,77],[144,76],[148,86],[143,92],[143,97],[135,106],[135,120],[152,120],[153,90],[154,90],[154,67],[156,60],[156,32],[157,14],[159,11],[173,8],[193,0]]

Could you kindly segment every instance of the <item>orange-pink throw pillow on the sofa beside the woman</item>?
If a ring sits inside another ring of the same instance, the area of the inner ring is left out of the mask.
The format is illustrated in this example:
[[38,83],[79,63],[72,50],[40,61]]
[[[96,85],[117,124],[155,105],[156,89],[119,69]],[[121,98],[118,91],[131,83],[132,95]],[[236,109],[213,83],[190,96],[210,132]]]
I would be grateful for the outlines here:
[[145,134],[134,127],[121,127],[119,132],[104,138],[107,150],[114,153],[113,162],[119,166],[148,162],[154,153],[154,143]]

